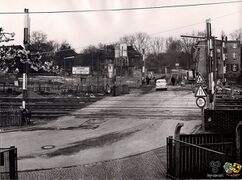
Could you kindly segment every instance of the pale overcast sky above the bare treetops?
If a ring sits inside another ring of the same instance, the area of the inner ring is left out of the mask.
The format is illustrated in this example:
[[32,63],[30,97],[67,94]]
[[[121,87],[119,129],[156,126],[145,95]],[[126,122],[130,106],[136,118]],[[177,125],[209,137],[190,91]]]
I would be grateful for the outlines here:
[[[130,8],[221,2],[226,0],[0,0],[0,12],[87,10]],[[233,0],[228,0],[233,1]],[[152,36],[179,37],[181,34],[204,31],[211,18],[212,33],[220,37],[242,27],[242,3],[210,6],[165,8],[152,10],[86,12],[64,14],[31,14],[31,32],[42,31],[49,40],[67,40],[77,51],[90,44],[112,43],[135,32]],[[217,18],[219,17],[219,18]],[[191,26],[190,26],[191,25]],[[181,28],[187,26],[185,28]],[[15,32],[15,41],[22,44],[24,15],[0,14],[0,27]]]

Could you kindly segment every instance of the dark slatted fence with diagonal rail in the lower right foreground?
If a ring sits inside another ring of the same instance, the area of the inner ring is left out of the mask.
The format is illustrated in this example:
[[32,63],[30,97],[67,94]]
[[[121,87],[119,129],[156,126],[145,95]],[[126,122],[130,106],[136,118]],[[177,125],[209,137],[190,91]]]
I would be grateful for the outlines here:
[[167,175],[175,178],[223,178],[223,165],[234,162],[233,134],[167,137]]

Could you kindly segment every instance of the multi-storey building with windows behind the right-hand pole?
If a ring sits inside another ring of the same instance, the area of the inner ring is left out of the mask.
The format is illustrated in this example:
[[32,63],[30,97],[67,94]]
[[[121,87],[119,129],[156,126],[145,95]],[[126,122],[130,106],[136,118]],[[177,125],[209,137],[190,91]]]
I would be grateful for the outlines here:
[[[212,71],[216,79],[238,78],[241,76],[241,44],[240,41],[222,41],[215,40],[213,45]],[[193,54],[197,72],[207,77],[207,42],[200,41],[196,45],[196,50]]]

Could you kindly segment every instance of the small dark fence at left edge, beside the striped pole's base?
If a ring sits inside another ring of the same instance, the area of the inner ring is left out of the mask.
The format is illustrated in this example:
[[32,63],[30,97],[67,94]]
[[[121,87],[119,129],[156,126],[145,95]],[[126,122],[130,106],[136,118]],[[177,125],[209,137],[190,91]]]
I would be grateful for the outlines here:
[[0,107],[0,127],[21,126],[20,110]]

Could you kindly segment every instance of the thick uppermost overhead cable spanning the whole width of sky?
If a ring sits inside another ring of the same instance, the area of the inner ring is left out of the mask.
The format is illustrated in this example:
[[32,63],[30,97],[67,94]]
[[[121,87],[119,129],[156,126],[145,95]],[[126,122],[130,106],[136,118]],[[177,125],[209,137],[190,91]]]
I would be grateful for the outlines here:
[[[197,3],[197,4],[177,4],[167,6],[149,6],[149,7],[131,7],[131,8],[110,8],[110,9],[86,9],[86,10],[57,10],[57,11],[29,11],[29,14],[61,14],[61,13],[92,13],[92,12],[115,12],[115,11],[136,11],[136,10],[151,10],[151,9],[167,9],[167,8],[184,8],[184,7],[195,7],[195,6],[209,6],[209,5],[220,5],[220,4],[233,4],[241,3],[239,1],[221,1],[211,3]],[[24,14],[24,12],[0,12],[0,14]]]

